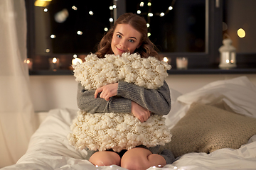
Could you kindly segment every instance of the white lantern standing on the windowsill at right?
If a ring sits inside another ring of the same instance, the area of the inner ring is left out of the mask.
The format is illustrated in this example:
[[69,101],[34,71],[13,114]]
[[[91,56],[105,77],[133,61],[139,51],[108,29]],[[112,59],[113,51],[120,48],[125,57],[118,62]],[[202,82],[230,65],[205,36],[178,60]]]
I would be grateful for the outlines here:
[[232,40],[229,38],[223,40],[223,46],[219,48],[221,69],[236,67],[236,52],[232,45]]

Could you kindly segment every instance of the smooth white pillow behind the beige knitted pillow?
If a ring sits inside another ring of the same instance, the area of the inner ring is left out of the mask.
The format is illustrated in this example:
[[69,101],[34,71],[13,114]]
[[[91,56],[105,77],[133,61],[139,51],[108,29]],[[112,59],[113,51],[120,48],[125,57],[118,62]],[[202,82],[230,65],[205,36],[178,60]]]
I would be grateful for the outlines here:
[[247,77],[214,81],[201,89],[179,96],[177,101],[208,105],[224,104],[225,110],[256,118],[256,87]]

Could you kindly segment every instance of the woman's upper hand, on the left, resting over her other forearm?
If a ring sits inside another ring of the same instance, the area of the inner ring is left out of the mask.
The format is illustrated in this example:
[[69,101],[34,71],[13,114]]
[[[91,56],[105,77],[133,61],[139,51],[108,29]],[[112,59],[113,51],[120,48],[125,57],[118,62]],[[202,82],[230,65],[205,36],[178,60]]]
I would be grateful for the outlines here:
[[118,83],[107,84],[102,86],[95,91],[95,98],[97,98],[97,94],[100,94],[100,98],[104,98],[106,101],[109,101],[112,96],[117,95]]

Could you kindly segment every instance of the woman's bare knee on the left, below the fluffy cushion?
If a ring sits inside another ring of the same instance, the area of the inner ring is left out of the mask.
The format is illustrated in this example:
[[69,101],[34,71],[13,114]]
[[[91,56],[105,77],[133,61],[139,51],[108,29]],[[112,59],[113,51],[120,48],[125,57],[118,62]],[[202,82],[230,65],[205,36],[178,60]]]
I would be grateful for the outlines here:
[[120,166],[121,158],[115,152],[95,152],[95,154],[92,154],[89,161],[97,166],[109,166],[112,164]]

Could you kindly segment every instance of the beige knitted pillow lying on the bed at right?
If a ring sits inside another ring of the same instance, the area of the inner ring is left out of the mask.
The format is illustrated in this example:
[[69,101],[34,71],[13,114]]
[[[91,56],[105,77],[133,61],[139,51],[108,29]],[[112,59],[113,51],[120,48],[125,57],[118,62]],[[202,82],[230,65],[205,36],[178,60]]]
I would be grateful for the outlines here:
[[174,157],[189,152],[238,149],[252,135],[256,135],[256,118],[193,103],[186,115],[171,129],[171,133],[171,142],[165,147],[171,149]]

